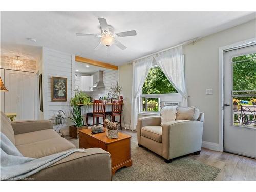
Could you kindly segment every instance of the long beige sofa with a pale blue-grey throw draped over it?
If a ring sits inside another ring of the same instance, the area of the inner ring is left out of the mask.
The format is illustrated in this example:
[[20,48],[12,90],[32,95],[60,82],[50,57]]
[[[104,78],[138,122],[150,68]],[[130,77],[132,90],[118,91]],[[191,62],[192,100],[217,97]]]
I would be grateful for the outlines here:
[[[40,158],[76,148],[52,129],[49,120],[10,122],[1,112],[1,132],[26,157]],[[101,148],[75,152],[30,176],[36,181],[111,181],[110,154]]]

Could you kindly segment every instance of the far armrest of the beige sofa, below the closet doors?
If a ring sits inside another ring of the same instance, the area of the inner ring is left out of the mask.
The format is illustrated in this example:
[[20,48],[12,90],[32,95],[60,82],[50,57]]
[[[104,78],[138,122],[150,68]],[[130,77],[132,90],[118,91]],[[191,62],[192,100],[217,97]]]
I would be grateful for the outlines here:
[[15,135],[52,129],[52,121],[50,120],[13,121],[11,125]]

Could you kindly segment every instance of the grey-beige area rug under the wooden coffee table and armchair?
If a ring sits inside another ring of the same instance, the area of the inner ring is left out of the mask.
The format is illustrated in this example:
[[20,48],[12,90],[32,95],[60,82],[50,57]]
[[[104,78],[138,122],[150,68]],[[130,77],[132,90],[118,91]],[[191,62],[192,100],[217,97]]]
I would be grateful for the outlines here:
[[[78,139],[71,140],[78,146]],[[220,169],[190,159],[181,157],[165,163],[157,154],[138,147],[131,141],[131,159],[133,165],[117,170],[113,181],[213,181]]]

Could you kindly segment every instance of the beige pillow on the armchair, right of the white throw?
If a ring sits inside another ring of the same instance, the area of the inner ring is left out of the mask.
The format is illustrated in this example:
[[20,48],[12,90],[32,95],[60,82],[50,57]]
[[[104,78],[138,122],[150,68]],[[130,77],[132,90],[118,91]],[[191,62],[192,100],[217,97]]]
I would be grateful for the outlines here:
[[177,108],[175,120],[197,120],[199,115],[199,109],[195,108],[194,106],[189,106],[187,108],[179,107]]

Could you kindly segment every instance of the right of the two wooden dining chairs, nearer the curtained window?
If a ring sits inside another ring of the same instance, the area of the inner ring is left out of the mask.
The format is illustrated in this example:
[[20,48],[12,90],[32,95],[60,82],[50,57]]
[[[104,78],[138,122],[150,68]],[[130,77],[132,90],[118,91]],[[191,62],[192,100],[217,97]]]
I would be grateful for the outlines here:
[[[120,129],[122,129],[122,106],[123,106],[123,100],[113,100],[112,111],[106,112],[106,115],[110,116],[112,122],[116,122],[117,124],[120,124]],[[119,116],[119,121],[116,121],[116,118],[115,118],[116,116]]]

